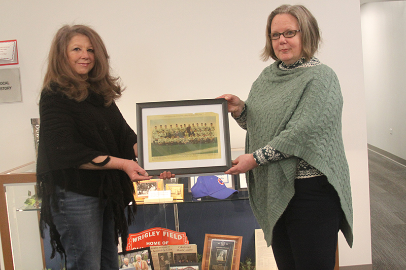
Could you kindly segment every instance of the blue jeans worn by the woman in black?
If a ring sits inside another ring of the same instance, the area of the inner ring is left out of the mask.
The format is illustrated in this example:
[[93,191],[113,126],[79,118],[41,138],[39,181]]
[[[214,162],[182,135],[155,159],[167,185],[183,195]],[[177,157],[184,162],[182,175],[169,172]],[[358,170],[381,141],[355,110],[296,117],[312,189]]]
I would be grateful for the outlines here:
[[114,215],[106,201],[66,191],[58,186],[58,211],[52,217],[66,252],[66,268],[118,269],[114,236]]

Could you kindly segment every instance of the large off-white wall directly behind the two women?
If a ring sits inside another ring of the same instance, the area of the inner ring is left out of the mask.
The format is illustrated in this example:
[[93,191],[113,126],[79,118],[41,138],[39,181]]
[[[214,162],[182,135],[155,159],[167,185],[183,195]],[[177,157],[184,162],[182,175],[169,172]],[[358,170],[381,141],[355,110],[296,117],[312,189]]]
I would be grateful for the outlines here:
[[[104,38],[114,70],[127,86],[118,105],[136,129],[135,103],[214,98],[245,99],[268,63],[259,60],[267,15],[293,1],[7,1],[0,40],[17,39],[23,102],[0,104],[0,172],[34,159],[29,119],[52,36],[63,23],[85,23]],[[340,265],[371,263],[360,7],[358,0],[304,0],[322,29],[319,59],[337,73],[344,95],[343,134],[354,202],[354,247],[340,236]],[[230,121],[231,146],[245,132]]]

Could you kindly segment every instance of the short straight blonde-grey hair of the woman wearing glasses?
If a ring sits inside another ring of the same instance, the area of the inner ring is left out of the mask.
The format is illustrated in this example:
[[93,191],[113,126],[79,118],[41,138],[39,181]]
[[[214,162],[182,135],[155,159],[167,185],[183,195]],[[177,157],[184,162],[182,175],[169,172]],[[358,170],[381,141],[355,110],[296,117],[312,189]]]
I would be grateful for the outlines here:
[[290,14],[297,19],[297,24],[299,25],[301,33],[303,56],[306,61],[309,61],[319,49],[319,45],[321,43],[321,32],[316,18],[306,7],[302,5],[282,5],[269,14],[265,30],[266,42],[261,53],[261,59],[263,61],[267,61],[269,58],[278,60],[269,36],[271,33],[270,24],[272,23],[274,17],[278,14]]

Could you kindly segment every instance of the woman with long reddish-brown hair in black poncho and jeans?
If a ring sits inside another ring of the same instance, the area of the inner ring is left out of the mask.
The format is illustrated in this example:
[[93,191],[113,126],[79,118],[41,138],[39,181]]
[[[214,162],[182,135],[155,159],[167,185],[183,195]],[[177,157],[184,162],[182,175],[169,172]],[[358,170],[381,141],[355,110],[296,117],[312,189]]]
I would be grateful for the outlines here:
[[151,178],[136,161],[137,135],[115,104],[122,91],[92,28],[57,31],[40,99],[37,186],[51,257],[64,254],[69,270],[118,269],[118,236],[125,250],[137,206],[132,182]]

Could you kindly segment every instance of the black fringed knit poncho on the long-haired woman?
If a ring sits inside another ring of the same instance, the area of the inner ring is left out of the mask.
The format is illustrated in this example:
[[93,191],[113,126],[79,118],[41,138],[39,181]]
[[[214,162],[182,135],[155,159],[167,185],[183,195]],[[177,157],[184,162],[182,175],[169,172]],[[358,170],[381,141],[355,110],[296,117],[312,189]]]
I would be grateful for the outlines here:
[[[43,91],[40,99],[40,142],[37,159],[37,188],[42,198],[41,234],[50,229],[52,255],[64,254],[51,215],[55,185],[78,194],[108,200],[113,207],[116,241],[122,237],[125,250],[128,225],[134,219],[134,186],[120,170],[82,170],[80,165],[98,156],[135,160],[137,135],[125,122],[117,105],[104,105],[104,98],[89,90],[82,102],[66,97],[56,85]],[[53,200],[55,202],[55,200]],[[132,202],[131,207],[127,207]],[[127,207],[125,218],[124,209]]]

